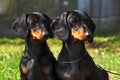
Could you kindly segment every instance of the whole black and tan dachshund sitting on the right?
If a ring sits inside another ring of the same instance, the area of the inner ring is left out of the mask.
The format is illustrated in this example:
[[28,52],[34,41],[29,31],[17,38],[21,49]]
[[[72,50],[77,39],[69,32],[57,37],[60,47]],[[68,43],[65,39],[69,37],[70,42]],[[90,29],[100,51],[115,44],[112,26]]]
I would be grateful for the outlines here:
[[104,69],[98,68],[85,49],[92,42],[95,25],[87,13],[68,11],[51,23],[56,37],[63,41],[56,66],[60,80],[108,80]]

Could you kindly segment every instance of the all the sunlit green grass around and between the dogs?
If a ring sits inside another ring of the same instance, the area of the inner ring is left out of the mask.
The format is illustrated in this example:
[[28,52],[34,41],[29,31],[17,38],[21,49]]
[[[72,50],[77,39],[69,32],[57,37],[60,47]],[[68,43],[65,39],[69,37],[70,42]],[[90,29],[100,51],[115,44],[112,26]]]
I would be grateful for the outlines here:
[[[92,44],[86,48],[95,63],[106,70],[120,73],[120,36],[95,35]],[[61,49],[61,41],[49,39],[48,44],[57,59]],[[0,38],[0,80],[20,80],[19,62],[24,50],[24,40]],[[110,80],[120,80],[120,76],[110,74]]]

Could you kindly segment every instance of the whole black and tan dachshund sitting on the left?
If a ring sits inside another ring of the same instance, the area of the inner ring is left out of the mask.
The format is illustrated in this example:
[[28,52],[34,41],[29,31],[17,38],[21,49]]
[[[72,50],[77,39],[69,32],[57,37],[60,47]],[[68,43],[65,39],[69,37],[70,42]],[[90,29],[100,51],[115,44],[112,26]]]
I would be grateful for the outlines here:
[[55,58],[46,43],[53,37],[51,21],[43,13],[31,12],[13,23],[14,32],[25,39],[20,62],[21,80],[54,80]]

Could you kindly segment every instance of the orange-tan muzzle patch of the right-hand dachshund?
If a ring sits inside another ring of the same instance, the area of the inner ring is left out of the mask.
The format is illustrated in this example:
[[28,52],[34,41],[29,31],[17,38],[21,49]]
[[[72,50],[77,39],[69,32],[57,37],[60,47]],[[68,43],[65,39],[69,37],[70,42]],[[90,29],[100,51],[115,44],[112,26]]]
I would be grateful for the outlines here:
[[75,39],[78,39],[78,40],[86,40],[86,31],[84,28],[81,28],[79,30],[74,30],[72,29],[72,36],[73,38]]

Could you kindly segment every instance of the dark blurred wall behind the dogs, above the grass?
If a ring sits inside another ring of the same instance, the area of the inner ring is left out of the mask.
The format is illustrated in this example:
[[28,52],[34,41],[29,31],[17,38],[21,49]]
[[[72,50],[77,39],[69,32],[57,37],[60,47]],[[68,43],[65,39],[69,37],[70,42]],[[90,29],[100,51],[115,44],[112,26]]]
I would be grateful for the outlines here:
[[120,0],[0,0],[0,37],[15,36],[11,24],[23,13],[38,11],[54,18],[73,9],[86,11],[96,32],[120,31]]

